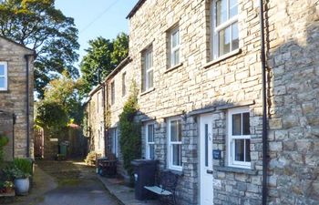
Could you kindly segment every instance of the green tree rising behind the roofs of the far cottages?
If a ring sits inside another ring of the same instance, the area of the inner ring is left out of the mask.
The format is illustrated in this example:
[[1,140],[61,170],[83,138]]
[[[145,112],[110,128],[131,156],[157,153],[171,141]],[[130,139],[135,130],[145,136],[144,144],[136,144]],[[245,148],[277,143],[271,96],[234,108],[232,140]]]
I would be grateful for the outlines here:
[[118,66],[129,55],[129,36],[120,33],[115,39],[109,40],[103,37],[88,42],[87,55],[80,63],[82,78],[84,81],[83,94],[98,85],[104,77]]

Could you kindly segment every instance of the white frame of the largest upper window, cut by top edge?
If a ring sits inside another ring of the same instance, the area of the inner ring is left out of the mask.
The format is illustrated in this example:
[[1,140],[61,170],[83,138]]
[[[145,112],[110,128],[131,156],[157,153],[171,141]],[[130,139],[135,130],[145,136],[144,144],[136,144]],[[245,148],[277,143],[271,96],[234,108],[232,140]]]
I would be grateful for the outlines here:
[[[216,26],[216,17],[217,17],[217,12],[216,12],[216,2],[218,0],[212,0],[211,1],[211,54],[212,54],[212,59],[217,59],[218,57],[221,56],[225,56],[229,53],[231,53],[232,50],[232,24],[234,23],[238,23],[238,16],[239,16],[239,11],[238,14],[235,16],[232,16],[232,18],[229,18],[230,15],[230,0],[227,0],[227,21],[221,23],[220,26]],[[230,52],[220,55],[219,54],[219,48],[220,48],[220,44],[219,44],[219,32],[225,28],[227,28],[228,26],[231,26],[231,47],[230,47]],[[239,33],[239,31],[238,31]],[[240,39],[240,37],[239,37]]]

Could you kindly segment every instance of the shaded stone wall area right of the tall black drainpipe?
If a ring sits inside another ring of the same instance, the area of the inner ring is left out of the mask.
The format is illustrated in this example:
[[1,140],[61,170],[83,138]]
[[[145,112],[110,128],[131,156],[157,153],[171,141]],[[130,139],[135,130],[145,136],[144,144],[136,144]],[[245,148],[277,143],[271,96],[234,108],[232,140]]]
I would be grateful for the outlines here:
[[319,16],[314,14],[268,57],[269,195],[276,204],[319,203]]

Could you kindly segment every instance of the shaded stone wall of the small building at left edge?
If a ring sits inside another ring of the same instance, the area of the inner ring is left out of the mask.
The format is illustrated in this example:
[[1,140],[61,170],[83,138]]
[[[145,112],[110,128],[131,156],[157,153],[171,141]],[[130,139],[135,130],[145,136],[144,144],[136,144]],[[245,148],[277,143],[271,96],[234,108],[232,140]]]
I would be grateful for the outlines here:
[[[0,61],[8,64],[8,90],[0,91],[0,108],[15,115],[14,138],[15,158],[26,157],[27,151],[33,158],[33,60],[29,62],[29,121],[30,150],[26,150],[26,59],[33,51],[0,36]],[[32,58],[32,57],[31,57]]]

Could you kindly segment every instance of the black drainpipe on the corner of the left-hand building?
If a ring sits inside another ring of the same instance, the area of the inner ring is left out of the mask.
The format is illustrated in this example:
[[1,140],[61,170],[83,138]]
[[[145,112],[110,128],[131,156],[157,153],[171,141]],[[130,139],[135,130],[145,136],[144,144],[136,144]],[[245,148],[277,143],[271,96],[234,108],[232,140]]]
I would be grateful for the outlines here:
[[25,55],[26,59],[26,158],[30,158],[30,97],[29,97],[29,56]]

